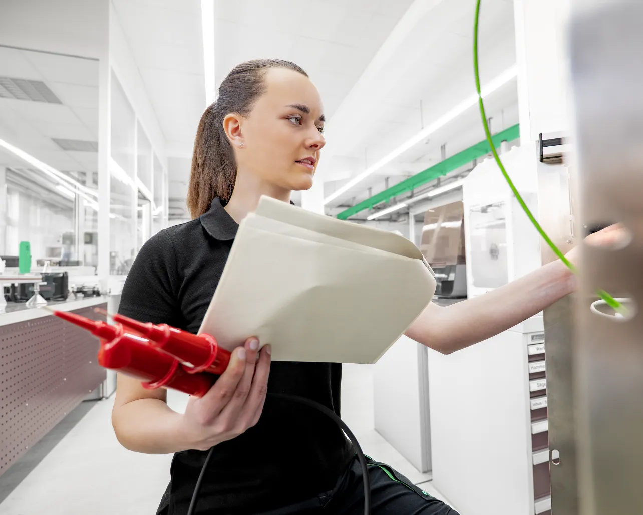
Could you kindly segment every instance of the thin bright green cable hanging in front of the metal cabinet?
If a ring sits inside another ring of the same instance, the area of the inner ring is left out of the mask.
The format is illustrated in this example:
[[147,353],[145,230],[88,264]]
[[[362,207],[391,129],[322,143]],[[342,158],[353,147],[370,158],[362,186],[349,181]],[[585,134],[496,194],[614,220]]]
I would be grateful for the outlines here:
[[[498,156],[498,152],[496,151],[496,147],[493,144],[493,141],[491,140],[491,131],[489,131],[489,123],[487,123],[487,113],[485,112],[484,108],[484,102],[482,101],[482,92],[480,89],[480,71],[478,70],[478,19],[480,17],[480,0],[476,0],[476,16],[475,16],[475,22],[473,26],[473,69],[475,73],[475,78],[476,78],[476,91],[478,91],[478,104],[480,104],[480,116],[482,116],[482,125],[484,125],[484,131],[487,136],[487,141],[489,142],[489,147],[491,147],[491,152],[493,152],[493,157],[496,160],[496,163],[498,163],[498,167],[500,168],[500,171],[502,172],[502,175],[505,177],[505,180],[507,181],[507,184],[509,185],[509,188],[511,188],[511,191],[516,197],[516,200],[520,204],[521,208],[523,208],[523,211],[529,218],[529,220],[532,222],[536,230],[540,233],[541,237],[547,242],[548,246],[554,251],[554,253],[561,259],[563,263],[574,273],[577,273],[577,269],[574,266],[574,264],[568,260],[565,255],[560,251],[559,248],[557,248],[556,244],[548,237],[547,233],[543,231],[543,228],[540,226],[534,215],[532,215],[531,211],[527,207],[527,204],[525,204],[525,201],[523,201],[523,198],[521,197],[520,193],[518,193],[518,190],[516,189],[516,186],[514,186],[513,181],[511,180],[511,177],[509,177],[509,174],[507,174],[507,170],[505,170],[505,167],[502,164],[502,161],[500,159],[500,156]],[[619,301],[617,301],[613,296],[611,296],[609,293],[607,293],[604,290],[599,290],[597,291],[597,294],[599,297],[602,298],[610,307],[615,309],[616,311],[619,312],[624,312],[625,309],[621,305]]]

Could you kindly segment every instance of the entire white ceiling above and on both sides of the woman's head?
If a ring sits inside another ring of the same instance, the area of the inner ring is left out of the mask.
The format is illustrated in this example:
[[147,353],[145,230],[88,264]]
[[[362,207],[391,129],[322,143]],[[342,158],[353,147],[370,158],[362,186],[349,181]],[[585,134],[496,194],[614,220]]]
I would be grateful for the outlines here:
[[[190,154],[205,104],[199,0],[112,0],[167,141],[170,199],[185,207]],[[328,144],[319,174],[331,194],[475,91],[472,0],[214,0],[217,86],[239,62],[292,60],[320,90]],[[485,0],[482,81],[515,62],[512,0]],[[422,113],[420,105],[422,102]],[[493,131],[518,121],[515,83],[491,96]],[[355,186],[350,205],[482,140],[462,114]]]

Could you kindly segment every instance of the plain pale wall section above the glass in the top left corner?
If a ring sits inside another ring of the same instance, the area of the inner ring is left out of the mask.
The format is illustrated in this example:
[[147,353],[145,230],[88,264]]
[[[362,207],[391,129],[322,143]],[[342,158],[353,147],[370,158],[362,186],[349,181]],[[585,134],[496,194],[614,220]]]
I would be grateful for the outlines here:
[[3,0],[0,44],[98,59],[109,0]]

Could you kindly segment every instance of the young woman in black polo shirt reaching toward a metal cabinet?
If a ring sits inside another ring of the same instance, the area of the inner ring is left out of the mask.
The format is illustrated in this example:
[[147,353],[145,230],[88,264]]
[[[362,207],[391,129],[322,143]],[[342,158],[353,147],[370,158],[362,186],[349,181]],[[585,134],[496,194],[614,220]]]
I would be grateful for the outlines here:
[[[199,123],[188,192],[194,219],[143,246],[119,312],[196,332],[239,222],[261,195],[289,202],[292,191],[311,187],[323,125],[319,93],[296,64],[255,60],[233,69]],[[607,244],[618,233],[592,238]],[[577,258],[573,251],[569,257]],[[509,329],[573,289],[568,269],[552,262],[484,298],[449,307],[431,303],[406,334],[454,352]],[[184,414],[168,408],[164,390],[145,390],[119,375],[112,421],[128,449],[175,453],[159,513],[186,513],[206,451],[214,447],[199,514],[361,514],[361,469],[340,429],[305,406],[266,398],[267,392],[291,393],[339,414],[340,383],[340,364],[271,364],[269,345],[260,348],[249,338],[210,392],[190,398]],[[385,464],[371,464],[374,514],[457,515]]]

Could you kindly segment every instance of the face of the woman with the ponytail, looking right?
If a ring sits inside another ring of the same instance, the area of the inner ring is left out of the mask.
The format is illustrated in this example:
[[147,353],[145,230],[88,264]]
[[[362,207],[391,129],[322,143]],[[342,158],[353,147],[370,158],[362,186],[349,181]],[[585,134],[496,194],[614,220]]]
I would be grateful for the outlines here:
[[266,91],[250,115],[237,118],[237,132],[228,126],[228,134],[239,138],[233,139],[239,175],[249,172],[284,190],[307,190],[325,144],[319,92],[309,78],[287,68],[268,69],[264,81]]

